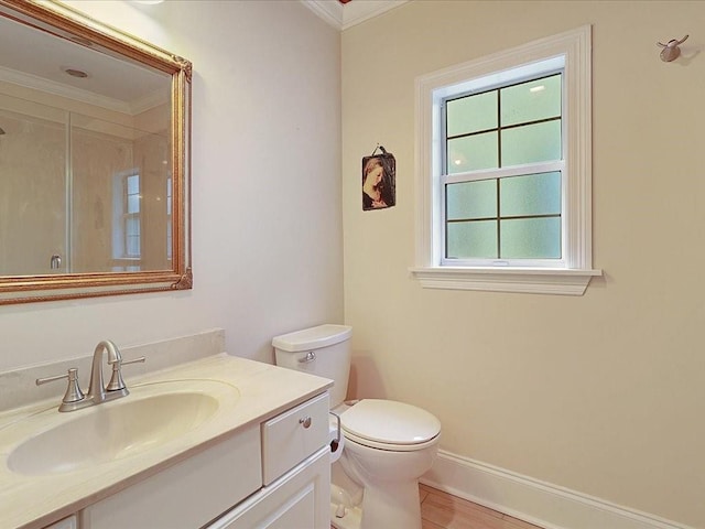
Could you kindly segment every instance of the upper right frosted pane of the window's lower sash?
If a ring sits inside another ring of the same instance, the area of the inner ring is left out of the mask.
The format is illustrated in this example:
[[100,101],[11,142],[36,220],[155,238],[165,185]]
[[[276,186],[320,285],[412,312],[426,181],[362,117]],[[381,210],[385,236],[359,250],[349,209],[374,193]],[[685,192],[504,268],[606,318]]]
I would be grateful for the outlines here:
[[561,173],[529,174],[501,179],[502,217],[561,214]]

